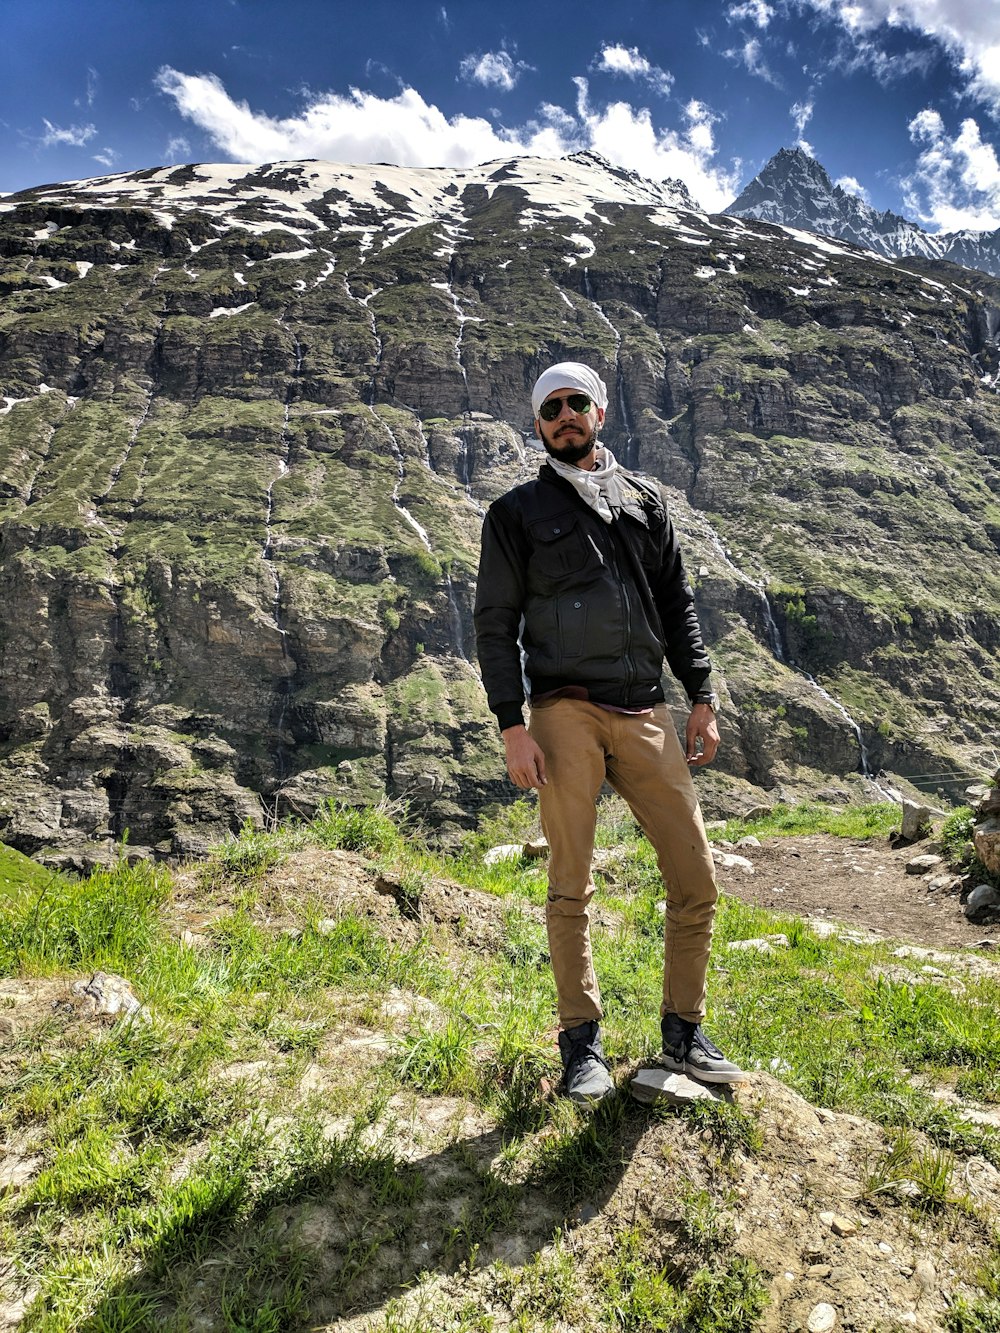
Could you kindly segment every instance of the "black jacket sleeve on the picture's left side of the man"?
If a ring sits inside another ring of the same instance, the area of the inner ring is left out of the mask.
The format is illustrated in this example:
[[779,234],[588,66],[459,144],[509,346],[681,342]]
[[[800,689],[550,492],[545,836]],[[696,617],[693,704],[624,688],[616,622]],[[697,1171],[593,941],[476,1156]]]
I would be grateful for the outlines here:
[[524,720],[520,632],[527,568],[524,531],[504,501],[496,500],[483,524],[475,624],[487,701],[501,730]]

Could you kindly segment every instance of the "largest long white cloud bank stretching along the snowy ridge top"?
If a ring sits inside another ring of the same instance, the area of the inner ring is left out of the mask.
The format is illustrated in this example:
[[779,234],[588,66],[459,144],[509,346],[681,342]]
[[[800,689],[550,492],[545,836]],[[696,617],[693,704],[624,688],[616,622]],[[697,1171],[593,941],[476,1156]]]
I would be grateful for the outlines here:
[[715,116],[691,101],[680,129],[657,128],[647,107],[616,101],[589,104],[585,79],[576,113],[543,104],[535,120],[515,129],[481,116],[447,117],[415,88],[395,97],[349,93],[313,96],[300,115],[285,119],[235,101],[215,75],[185,75],[164,67],[156,85],[180,113],[204,131],[232,161],[260,163],[320,157],[341,163],[391,161],[401,167],[471,167],[496,157],[560,157],[592,148],[617,167],[655,180],[679,177],[701,207],[716,212],[737,192],[739,163],[715,163]]

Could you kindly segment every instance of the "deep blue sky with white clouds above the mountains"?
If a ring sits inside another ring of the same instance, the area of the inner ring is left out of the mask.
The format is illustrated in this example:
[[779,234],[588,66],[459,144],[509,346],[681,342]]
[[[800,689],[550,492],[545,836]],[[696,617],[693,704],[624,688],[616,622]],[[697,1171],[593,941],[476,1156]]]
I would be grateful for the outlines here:
[[781,147],[1000,227],[1000,0],[0,0],[0,191],[183,161],[595,148],[705,208]]

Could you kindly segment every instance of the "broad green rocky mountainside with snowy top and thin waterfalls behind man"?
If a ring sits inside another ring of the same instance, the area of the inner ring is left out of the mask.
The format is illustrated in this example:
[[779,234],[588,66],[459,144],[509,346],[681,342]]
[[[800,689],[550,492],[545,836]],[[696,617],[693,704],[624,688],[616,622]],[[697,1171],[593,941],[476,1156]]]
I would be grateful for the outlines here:
[[325,796],[503,797],[479,527],[565,357],[684,537],[709,808],[995,766],[985,277],[583,155],[43,187],[0,204],[0,840],[181,854]]

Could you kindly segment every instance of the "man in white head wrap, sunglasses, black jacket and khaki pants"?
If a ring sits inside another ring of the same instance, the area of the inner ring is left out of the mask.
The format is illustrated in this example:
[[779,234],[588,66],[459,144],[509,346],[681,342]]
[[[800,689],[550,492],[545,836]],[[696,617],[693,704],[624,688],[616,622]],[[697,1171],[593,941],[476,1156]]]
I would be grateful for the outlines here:
[[[613,1090],[588,913],[605,778],[652,842],[667,888],[664,1064],[709,1082],[744,1077],[701,1030],[717,890],[688,765],[708,764],[719,746],[711,663],[659,487],[599,443],[607,405],[587,365],[563,361],[539,376],[532,412],[547,457],[537,480],[491,507],[476,595],[507,770],[539,790],[564,1088],[584,1102]],[[687,756],[664,704],[664,656],[692,702]]]

